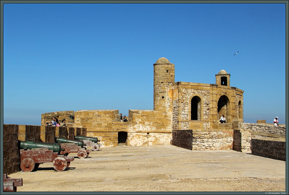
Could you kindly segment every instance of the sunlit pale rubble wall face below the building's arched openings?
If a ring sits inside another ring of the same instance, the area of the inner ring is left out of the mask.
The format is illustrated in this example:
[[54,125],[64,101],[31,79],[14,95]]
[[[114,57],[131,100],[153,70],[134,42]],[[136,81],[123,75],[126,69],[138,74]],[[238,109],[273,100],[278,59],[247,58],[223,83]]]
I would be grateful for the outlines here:
[[227,150],[233,148],[233,129],[193,129],[192,150]]

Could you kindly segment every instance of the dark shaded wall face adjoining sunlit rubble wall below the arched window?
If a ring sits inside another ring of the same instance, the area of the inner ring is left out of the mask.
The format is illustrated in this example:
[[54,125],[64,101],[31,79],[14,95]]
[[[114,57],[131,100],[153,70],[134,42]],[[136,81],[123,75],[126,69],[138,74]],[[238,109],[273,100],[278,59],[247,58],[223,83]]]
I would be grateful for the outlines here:
[[171,145],[192,150],[192,130],[172,131]]

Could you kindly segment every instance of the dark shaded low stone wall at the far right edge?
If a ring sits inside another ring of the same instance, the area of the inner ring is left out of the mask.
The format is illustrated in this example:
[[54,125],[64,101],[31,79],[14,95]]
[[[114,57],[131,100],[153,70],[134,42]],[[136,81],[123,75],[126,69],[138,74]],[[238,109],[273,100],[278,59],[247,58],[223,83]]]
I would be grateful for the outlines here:
[[285,139],[252,139],[251,144],[253,155],[286,161]]

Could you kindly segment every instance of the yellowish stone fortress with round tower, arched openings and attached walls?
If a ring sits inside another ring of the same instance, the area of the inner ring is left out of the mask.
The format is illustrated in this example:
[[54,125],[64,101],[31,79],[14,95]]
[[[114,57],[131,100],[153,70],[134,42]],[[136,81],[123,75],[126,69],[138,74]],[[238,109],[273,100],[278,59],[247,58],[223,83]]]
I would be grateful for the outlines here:
[[[173,144],[193,150],[251,152],[251,136],[265,133],[258,130],[262,125],[243,124],[244,91],[230,86],[225,70],[215,75],[216,84],[205,84],[175,82],[175,65],[164,57],[153,68],[154,109],[129,110],[128,122],[120,122],[118,110],[45,113],[42,121],[56,114],[66,120],[73,115],[68,127],[86,128],[87,135],[97,137],[103,147]],[[224,124],[219,122],[222,115]]]

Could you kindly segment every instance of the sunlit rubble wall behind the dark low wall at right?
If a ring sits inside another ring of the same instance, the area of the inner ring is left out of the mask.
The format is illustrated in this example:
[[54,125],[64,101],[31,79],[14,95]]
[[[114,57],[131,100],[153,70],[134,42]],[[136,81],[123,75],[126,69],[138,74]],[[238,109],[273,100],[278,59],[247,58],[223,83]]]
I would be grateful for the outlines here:
[[256,124],[256,123],[240,123],[239,129],[249,130],[252,134],[262,135],[263,137],[278,137],[286,136],[286,126]]

